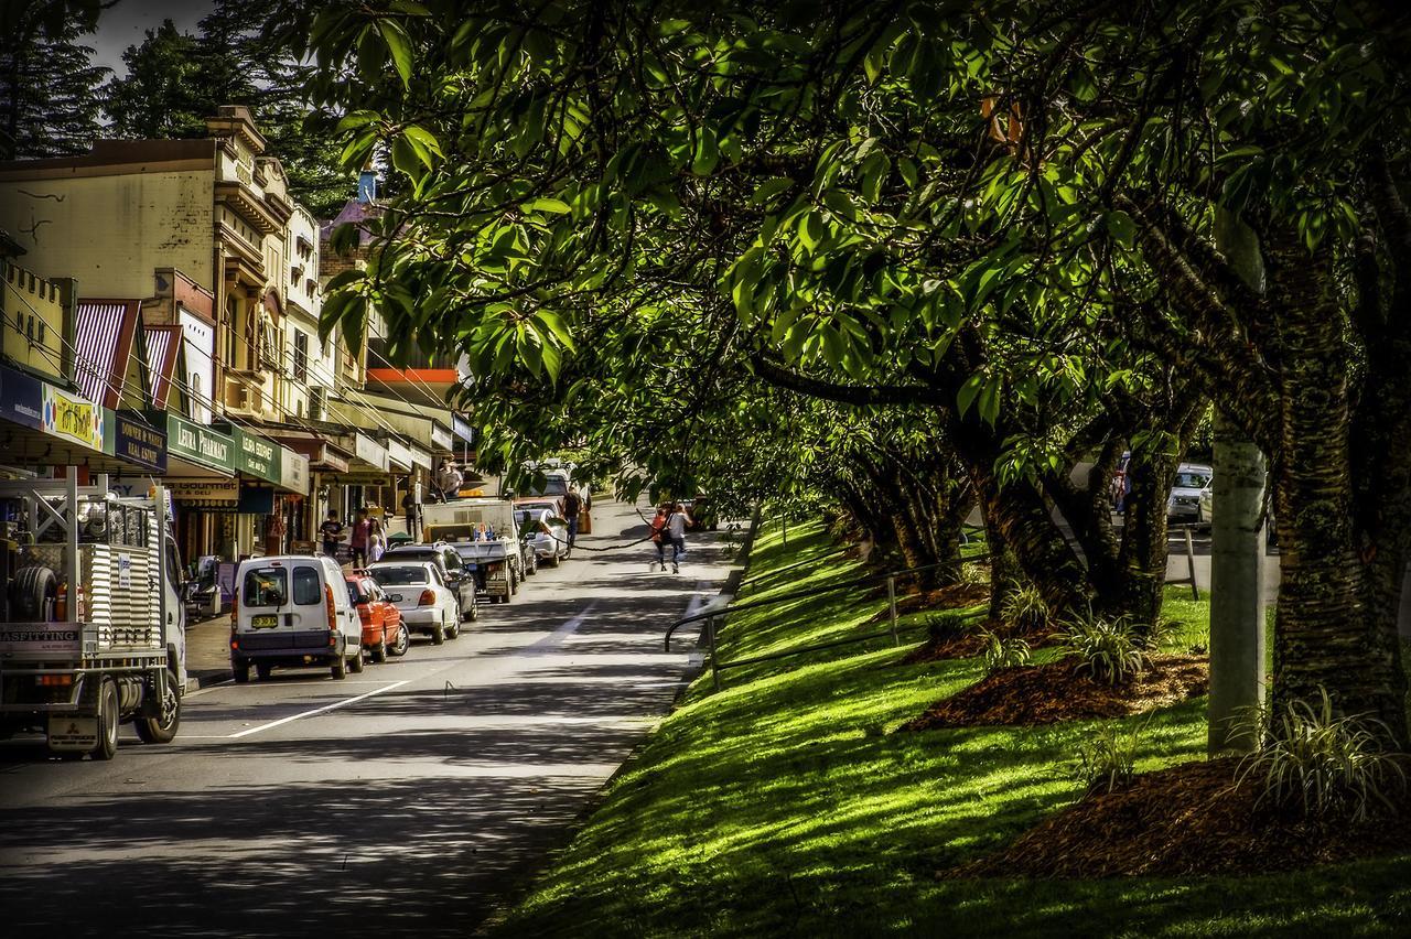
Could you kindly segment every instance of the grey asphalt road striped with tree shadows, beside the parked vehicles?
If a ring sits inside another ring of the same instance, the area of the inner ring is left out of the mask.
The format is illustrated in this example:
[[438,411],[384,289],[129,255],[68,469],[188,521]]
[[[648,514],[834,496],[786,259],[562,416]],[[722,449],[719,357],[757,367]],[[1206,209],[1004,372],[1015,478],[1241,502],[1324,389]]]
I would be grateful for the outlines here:
[[[583,548],[639,537],[595,502]],[[332,681],[192,692],[166,746],[123,729],[110,763],[0,746],[4,935],[464,936],[562,845],[669,708],[724,533],[680,575],[649,546],[574,553],[460,639]]]

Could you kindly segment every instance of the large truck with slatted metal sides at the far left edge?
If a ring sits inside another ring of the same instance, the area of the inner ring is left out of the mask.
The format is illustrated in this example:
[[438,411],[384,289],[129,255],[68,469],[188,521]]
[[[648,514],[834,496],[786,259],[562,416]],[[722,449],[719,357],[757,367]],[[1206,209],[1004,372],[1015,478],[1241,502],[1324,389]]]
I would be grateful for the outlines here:
[[181,725],[181,558],[161,486],[120,498],[68,475],[0,482],[0,735],[111,760],[120,722],[145,743]]

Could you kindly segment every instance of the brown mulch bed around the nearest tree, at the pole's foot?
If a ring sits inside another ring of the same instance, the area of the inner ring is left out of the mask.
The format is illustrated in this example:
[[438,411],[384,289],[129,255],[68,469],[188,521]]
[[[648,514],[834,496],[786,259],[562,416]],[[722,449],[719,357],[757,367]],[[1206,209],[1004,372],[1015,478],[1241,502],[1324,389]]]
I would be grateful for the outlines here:
[[1237,784],[1237,768],[1239,760],[1225,759],[1139,775],[1127,788],[1079,799],[1003,852],[940,877],[1246,874],[1411,849],[1405,821],[1318,822],[1257,806],[1257,782]]

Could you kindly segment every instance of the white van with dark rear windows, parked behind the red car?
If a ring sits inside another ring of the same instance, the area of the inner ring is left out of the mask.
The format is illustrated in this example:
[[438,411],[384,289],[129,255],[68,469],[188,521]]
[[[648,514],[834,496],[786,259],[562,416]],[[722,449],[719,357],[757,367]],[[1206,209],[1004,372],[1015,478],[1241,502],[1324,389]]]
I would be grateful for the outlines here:
[[363,671],[363,623],[337,561],[285,554],[240,563],[230,613],[236,684],[250,681],[250,665],[261,680],[275,665],[329,665],[334,678]]

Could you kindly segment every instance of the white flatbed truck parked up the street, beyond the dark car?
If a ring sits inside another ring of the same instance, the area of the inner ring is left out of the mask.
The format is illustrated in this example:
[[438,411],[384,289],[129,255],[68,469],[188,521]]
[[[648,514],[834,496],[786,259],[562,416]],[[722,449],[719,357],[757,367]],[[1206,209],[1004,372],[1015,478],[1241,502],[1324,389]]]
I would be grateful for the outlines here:
[[[477,541],[481,524],[495,537]],[[452,543],[461,558],[477,565],[478,591],[498,603],[508,603],[535,570],[525,564],[514,503],[505,499],[452,499],[422,506],[422,539]]]

